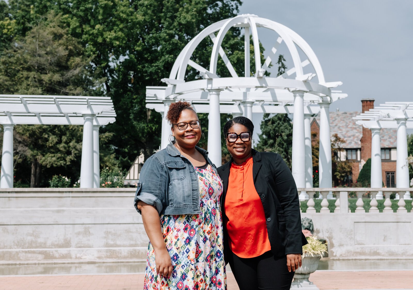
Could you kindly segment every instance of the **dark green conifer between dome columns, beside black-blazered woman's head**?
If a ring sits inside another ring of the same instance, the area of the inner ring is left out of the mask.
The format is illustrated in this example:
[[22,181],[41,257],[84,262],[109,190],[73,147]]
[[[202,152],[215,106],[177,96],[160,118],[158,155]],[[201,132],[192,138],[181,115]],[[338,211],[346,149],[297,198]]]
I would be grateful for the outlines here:
[[292,120],[287,114],[264,114],[256,150],[276,152],[291,169]]

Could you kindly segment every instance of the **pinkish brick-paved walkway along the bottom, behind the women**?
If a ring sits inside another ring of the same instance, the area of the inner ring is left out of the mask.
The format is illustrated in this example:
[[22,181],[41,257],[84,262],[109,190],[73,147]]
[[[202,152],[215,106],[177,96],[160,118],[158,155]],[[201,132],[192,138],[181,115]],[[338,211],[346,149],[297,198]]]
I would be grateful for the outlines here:
[[[311,274],[320,290],[413,289],[413,271],[316,271]],[[0,276],[0,290],[141,290],[143,274]],[[228,290],[238,290],[228,273]]]

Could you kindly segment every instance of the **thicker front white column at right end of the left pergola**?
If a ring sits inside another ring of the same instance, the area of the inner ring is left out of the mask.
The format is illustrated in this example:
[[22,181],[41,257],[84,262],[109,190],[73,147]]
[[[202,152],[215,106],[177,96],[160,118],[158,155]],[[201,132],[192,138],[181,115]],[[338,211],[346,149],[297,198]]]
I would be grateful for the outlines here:
[[80,187],[93,188],[93,115],[83,115]]

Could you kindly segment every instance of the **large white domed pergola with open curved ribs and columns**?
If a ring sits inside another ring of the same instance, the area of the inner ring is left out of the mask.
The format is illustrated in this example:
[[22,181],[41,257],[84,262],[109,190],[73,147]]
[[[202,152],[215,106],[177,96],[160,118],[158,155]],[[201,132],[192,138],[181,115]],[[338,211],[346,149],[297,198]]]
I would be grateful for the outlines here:
[[[232,27],[239,27],[244,31],[245,63],[244,75],[242,76],[237,74],[221,47],[225,34]],[[278,34],[278,37],[274,39],[274,46],[269,51],[263,64],[261,64],[260,58],[257,27],[270,29]],[[255,59],[252,76],[250,75],[251,69],[249,64],[250,36],[254,46]],[[207,37],[211,38],[214,43],[209,69],[191,60],[195,48]],[[276,52],[278,46],[282,43],[287,46],[294,67],[278,77],[265,76],[264,74],[271,62],[277,60]],[[298,50],[304,52],[304,54],[301,54],[304,55],[304,58],[301,58]],[[219,56],[223,59],[231,77],[221,78],[217,75]],[[186,71],[188,66],[197,70],[202,79],[187,81]],[[304,73],[304,68],[308,72]],[[317,81],[311,81],[312,79],[317,79]],[[197,107],[196,103],[201,101],[209,104],[208,107],[203,107],[202,111],[208,110],[209,113],[208,151],[211,161],[215,164],[221,164],[221,125],[219,114],[221,109],[224,112],[229,112],[230,110],[228,109],[227,111],[227,107],[223,106],[230,105],[234,109],[232,114],[244,114],[244,116],[250,119],[252,118],[252,112],[290,113],[290,109],[292,109],[294,114],[292,174],[299,188],[312,186],[309,178],[306,178],[306,176],[309,176],[309,172],[306,172],[306,169],[309,168],[309,163],[312,164],[311,136],[306,142],[305,134],[305,131],[309,130],[305,130],[305,128],[309,128],[311,115],[305,114],[304,102],[318,105],[320,107],[320,187],[330,188],[332,186],[329,107],[331,102],[347,95],[331,90],[331,88],[335,88],[342,83],[325,81],[323,70],[313,50],[311,50],[304,39],[291,29],[275,21],[251,14],[243,14],[218,21],[190,40],[178,55],[169,78],[164,78],[162,81],[168,86],[147,87],[146,95],[148,98],[152,98],[152,100],[149,100],[151,103],[154,103],[154,100],[163,103],[164,112],[168,110],[170,103],[176,100],[191,101],[195,107]],[[229,104],[226,103],[227,100]],[[148,106],[155,108],[151,104],[148,104]],[[163,122],[163,128],[167,128],[168,122],[164,118]],[[169,130],[162,131],[163,136],[169,134]],[[163,140],[161,148],[167,144],[165,138]],[[309,144],[310,150],[308,150],[306,144]],[[306,155],[309,156],[306,157]],[[312,180],[312,165],[310,167]]]

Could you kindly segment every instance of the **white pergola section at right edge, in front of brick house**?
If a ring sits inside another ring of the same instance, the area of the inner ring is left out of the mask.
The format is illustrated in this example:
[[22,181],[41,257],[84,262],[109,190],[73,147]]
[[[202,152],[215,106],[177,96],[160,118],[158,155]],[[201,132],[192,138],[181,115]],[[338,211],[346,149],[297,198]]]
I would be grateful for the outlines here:
[[[413,128],[413,102],[385,102],[356,117],[356,123],[371,130],[371,187],[382,187],[382,160],[380,148],[380,130],[397,128],[396,185],[399,188],[409,187],[409,169],[407,161],[407,132]],[[377,199],[382,199],[379,193]],[[399,195],[396,195],[396,198]],[[411,199],[410,193],[404,194],[405,200]]]

